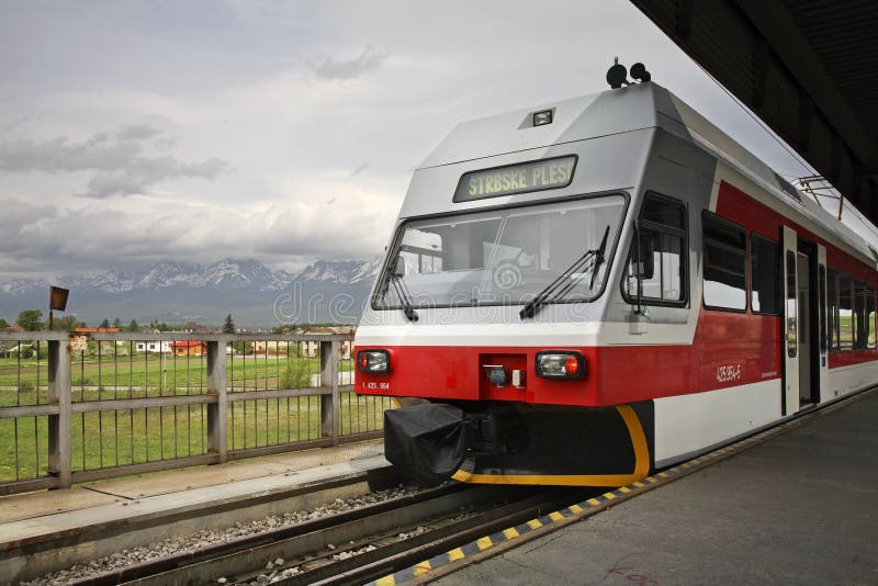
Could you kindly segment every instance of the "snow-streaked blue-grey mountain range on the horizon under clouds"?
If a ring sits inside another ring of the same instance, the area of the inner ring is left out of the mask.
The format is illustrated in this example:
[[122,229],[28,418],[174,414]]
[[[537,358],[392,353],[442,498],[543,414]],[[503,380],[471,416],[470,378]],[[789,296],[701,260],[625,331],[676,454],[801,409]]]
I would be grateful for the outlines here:
[[354,323],[381,259],[318,260],[299,272],[272,271],[256,259],[212,264],[162,261],[146,271],[111,270],[92,277],[15,279],[0,283],[0,317],[47,314],[49,284],[70,290],[67,313],[89,325],[198,322],[219,326],[232,314],[239,327],[270,328],[305,322]]

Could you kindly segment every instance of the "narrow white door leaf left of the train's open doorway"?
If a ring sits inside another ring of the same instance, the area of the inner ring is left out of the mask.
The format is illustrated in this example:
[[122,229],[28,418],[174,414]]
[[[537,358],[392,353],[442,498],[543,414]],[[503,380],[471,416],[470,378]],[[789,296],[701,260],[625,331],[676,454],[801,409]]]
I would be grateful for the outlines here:
[[784,244],[784,385],[780,414],[799,410],[799,237],[783,226]]

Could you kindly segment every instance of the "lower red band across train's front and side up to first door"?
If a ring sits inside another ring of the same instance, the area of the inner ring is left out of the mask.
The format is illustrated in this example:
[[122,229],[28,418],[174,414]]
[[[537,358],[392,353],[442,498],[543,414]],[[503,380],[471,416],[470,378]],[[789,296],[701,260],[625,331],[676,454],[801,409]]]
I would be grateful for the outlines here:
[[[780,376],[780,318],[701,311],[693,345],[604,347],[394,346],[391,373],[358,372],[358,393],[439,399],[601,406],[712,391]],[[358,349],[367,349],[360,345]],[[576,350],[582,379],[538,379],[541,350]],[[526,372],[524,388],[496,388],[483,365]]]

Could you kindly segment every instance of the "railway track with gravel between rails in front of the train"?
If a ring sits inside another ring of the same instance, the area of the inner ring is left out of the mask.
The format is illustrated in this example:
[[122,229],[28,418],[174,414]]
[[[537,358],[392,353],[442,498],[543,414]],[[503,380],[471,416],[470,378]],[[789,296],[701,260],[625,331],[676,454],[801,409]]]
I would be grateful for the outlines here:
[[582,493],[446,486],[74,584],[361,584],[561,508]]

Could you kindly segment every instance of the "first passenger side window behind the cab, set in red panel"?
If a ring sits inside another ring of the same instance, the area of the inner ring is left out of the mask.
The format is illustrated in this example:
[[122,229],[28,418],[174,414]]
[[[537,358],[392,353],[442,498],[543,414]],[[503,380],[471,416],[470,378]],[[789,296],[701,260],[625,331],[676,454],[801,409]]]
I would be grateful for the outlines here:
[[747,308],[747,239],[743,228],[710,212],[701,216],[705,307]]

